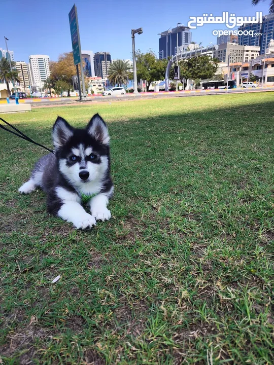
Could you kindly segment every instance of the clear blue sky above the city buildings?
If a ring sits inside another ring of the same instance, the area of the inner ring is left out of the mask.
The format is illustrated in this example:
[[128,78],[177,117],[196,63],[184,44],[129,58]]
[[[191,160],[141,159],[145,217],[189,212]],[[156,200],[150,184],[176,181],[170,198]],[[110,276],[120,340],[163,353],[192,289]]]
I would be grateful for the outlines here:
[[[76,0],[82,50],[108,51],[112,59],[131,57],[130,29],[143,27],[136,35],[136,49],[153,49],[158,54],[157,33],[187,25],[189,16],[203,13],[254,16],[256,11],[268,14],[270,0],[253,7],[251,0]],[[51,60],[72,50],[68,12],[70,0],[2,0],[0,4],[0,47],[4,35],[15,60],[28,62],[30,54],[47,54]],[[14,26],[15,24],[15,26]],[[192,30],[192,40],[203,45],[215,43],[217,25],[203,25]]]

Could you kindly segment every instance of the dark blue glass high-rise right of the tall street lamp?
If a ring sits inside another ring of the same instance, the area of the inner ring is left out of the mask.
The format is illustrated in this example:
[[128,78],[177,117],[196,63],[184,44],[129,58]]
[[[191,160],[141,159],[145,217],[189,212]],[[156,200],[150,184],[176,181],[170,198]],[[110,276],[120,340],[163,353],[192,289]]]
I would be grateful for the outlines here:
[[[178,50],[177,50],[177,34],[178,34]],[[175,56],[181,51],[185,51],[191,44],[190,28],[180,25],[173,29],[165,30],[160,33],[159,38],[159,58],[167,58]]]

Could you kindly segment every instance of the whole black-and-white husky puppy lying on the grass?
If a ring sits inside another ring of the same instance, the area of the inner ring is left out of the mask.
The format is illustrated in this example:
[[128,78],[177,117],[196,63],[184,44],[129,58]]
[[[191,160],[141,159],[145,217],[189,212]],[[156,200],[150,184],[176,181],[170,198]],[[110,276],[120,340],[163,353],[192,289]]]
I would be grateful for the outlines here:
[[[106,123],[96,114],[85,129],[76,129],[58,117],[52,136],[55,155],[43,156],[35,164],[19,192],[29,194],[42,188],[47,194],[48,211],[77,229],[91,228],[96,220],[109,220],[107,205],[114,188]],[[96,194],[87,203],[90,214],[81,205],[81,194]]]

